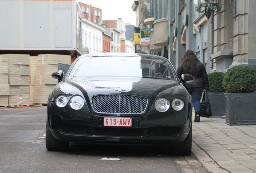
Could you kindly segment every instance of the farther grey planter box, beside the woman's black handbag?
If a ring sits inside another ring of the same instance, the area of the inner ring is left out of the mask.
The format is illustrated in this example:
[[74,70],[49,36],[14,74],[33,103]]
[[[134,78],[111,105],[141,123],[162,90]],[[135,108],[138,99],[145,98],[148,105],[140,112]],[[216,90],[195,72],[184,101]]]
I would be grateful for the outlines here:
[[225,92],[207,93],[211,103],[212,117],[222,117],[225,115]]

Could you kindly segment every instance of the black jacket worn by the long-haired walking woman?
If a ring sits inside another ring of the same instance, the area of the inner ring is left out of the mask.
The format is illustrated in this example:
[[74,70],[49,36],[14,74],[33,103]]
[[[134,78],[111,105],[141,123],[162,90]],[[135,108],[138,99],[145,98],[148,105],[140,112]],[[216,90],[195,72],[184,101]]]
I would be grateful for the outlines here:
[[[185,88],[203,88],[208,90],[209,89],[209,82],[208,82],[208,77],[207,77],[207,72],[204,68],[204,65],[201,62],[197,62],[195,66],[198,66],[196,73],[191,74],[194,77],[193,82],[185,83],[184,87]],[[182,74],[190,74],[188,72],[188,69],[186,69],[182,64],[178,66],[177,69],[177,74],[178,77],[180,78]]]

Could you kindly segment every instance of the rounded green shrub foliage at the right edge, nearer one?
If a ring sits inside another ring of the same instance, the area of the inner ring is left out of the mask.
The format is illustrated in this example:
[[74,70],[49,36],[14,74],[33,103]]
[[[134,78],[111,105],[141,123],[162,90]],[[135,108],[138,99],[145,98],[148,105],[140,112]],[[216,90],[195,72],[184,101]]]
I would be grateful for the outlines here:
[[253,93],[256,90],[256,69],[238,65],[229,68],[223,78],[227,93]]

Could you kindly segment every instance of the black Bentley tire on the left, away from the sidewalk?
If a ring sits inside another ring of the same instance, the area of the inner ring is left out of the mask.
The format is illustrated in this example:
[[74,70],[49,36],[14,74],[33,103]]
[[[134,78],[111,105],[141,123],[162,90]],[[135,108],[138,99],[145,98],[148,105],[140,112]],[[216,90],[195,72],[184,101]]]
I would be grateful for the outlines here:
[[52,136],[50,131],[48,117],[46,120],[45,144],[48,151],[64,151],[68,150],[69,142],[59,141]]

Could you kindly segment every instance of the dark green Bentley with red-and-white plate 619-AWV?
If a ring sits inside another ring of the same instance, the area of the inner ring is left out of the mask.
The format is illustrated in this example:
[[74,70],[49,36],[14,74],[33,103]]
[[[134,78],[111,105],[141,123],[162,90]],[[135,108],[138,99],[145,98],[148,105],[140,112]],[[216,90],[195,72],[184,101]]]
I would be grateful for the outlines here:
[[78,57],[47,104],[46,148],[69,142],[98,145],[165,145],[190,155],[192,99],[171,62],[148,54],[99,53]]

